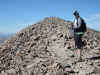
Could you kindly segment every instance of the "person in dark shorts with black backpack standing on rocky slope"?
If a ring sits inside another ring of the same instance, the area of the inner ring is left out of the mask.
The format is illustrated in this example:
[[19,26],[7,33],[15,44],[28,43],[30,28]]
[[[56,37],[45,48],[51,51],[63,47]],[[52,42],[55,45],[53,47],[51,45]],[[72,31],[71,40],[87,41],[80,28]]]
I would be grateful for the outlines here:
[[83,48],[82,36],[86,32],[86,23],[83,20],[83,18],[80,17],[77,11],[75,11],[73,15],[74,15],[74,22],[72,28],[74,32],[75,49],[77,49],[77,55],[79,57],[79,60],[82,60],[81,58],[81,51]]

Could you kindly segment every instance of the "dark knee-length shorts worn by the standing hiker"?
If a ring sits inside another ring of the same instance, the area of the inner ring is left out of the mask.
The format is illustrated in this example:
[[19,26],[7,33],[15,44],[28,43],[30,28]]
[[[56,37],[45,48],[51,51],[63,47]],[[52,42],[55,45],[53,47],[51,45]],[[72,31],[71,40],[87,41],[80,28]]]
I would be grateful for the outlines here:
[[77,35],[74,33],[74,40],[75,40],[75,47],[78,49],[82,49],[83,43],[82,43],[82,35]]

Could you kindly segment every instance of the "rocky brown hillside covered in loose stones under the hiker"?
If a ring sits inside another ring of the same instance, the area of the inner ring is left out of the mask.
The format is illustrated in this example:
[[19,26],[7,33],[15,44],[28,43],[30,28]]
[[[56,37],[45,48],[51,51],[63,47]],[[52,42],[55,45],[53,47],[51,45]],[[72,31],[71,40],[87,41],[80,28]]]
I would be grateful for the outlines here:
[[0,45],[0,75],[100,75],[100,32],[83,36],[83,61],[75,53],[72,22],[50,17]]

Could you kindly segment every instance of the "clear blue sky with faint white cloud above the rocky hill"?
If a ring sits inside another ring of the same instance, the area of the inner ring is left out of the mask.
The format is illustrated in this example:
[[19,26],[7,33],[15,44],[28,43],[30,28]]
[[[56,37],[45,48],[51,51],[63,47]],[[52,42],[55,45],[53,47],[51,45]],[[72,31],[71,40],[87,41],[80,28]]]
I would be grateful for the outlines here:
[[73,21],[74,10],[100,30],[100,0],[0,0],[0,32],[18,32],[47,16]]

